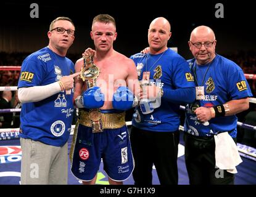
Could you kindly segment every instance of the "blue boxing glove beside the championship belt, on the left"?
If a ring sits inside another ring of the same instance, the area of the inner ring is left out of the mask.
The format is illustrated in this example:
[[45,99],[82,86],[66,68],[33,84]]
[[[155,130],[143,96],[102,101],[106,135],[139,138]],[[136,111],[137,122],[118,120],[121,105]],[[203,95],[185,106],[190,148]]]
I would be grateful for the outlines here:
[[88,109],[100,108],[104,105],[104,94],[100,87],[91,87],[83,93],[83,106]]

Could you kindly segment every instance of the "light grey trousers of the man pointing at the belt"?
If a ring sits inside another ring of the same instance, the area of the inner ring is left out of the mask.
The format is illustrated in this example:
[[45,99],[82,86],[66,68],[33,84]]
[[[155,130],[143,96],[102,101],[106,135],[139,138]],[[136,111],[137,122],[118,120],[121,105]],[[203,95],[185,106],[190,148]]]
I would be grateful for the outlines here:
[[22,185],[67,184],[68,146],[54,147],[20,138],[22,147]]

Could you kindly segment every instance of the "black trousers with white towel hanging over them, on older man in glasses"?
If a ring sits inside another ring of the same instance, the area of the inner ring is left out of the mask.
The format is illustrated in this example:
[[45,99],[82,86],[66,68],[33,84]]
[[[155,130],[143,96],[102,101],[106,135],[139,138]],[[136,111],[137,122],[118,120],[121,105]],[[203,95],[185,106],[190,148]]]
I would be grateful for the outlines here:
[[[234,139],[236,142],[236,139]],[[185,161],[191,185],[233,185],[234,174],[215,167],[214,137],[184,132]]]

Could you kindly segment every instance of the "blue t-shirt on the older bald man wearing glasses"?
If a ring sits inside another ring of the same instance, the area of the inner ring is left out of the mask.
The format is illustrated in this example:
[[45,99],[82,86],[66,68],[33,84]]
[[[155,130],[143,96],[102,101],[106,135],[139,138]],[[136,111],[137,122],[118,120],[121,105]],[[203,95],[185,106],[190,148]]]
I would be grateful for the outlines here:
[[[231,60],[221,55],[216,55],[211,63],[197,65],[196,61],[188,60],[194,76],[196,86],[204,86],[204,99],[197,101],[202,107],[222,105],[230,100],[252,97],[249,84],[242,69]],[[196,74],[195,74],[196,73]],[[209,126],[204,126],[197,121],[196,115],[191,113],[187,106],[184,129],[192,135],[203,137],[230,131],[231,137],[236,137],[237,117],[223,116],[209,120]]]

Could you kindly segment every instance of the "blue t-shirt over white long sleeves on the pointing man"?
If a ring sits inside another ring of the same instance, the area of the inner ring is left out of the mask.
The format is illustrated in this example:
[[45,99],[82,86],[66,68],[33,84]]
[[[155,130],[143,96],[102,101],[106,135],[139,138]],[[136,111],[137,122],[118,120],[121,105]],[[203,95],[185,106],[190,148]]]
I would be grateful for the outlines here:
[[[45,86],[75,72],[74,64],[48,47],[29,55],[22,63],[18,88]],[[22,104],[20,137],[61,147],[71,131],[73,89],[54,94],[39,102]]]

